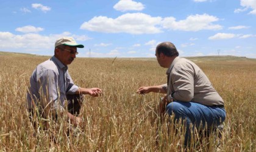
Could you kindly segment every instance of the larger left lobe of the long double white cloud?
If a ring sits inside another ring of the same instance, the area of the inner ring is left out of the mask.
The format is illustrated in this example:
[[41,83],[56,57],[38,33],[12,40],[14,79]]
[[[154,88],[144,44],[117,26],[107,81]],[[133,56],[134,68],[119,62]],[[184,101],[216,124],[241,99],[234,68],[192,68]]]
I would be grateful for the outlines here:
[[90,21],[84,22],[80,29],[105,33],[160,33],[162,31],[157,25],[161,19],[144,13],[126,13],[115,19],[96,16]]

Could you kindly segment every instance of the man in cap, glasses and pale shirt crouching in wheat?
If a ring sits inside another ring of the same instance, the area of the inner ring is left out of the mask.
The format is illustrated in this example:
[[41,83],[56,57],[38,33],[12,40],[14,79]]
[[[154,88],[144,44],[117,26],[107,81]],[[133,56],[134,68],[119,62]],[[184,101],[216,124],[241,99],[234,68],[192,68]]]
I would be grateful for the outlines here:
[[76,58],[77,47],[84,48],[84,45],[77,44],[72,37],[59,38],[55,42],[54,56],[36,67],[30,77],[27,93],[27,108],[32,114],[38,109],[43,116],[54,114],[53,117],[57,117],[53,111],[59,110],[77,126],[81,122],[77,116],[84,94],[93,97],[102,94],[99,88],[80,88],[74,85],[68,73],[68,64]]

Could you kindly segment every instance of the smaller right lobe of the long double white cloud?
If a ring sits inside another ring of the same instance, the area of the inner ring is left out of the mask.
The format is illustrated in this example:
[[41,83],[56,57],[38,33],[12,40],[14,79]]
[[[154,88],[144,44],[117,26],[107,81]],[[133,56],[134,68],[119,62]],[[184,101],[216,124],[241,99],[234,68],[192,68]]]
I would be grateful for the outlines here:
[[222,26],[213,24],[219,21],[216,16],[208,14],[190,15],[185,20],[176,21],[174,17],[164,18],[162,21],[163,28],[169,30],[185,30],[185,31],[199,31],[199,30],[220,30]]

